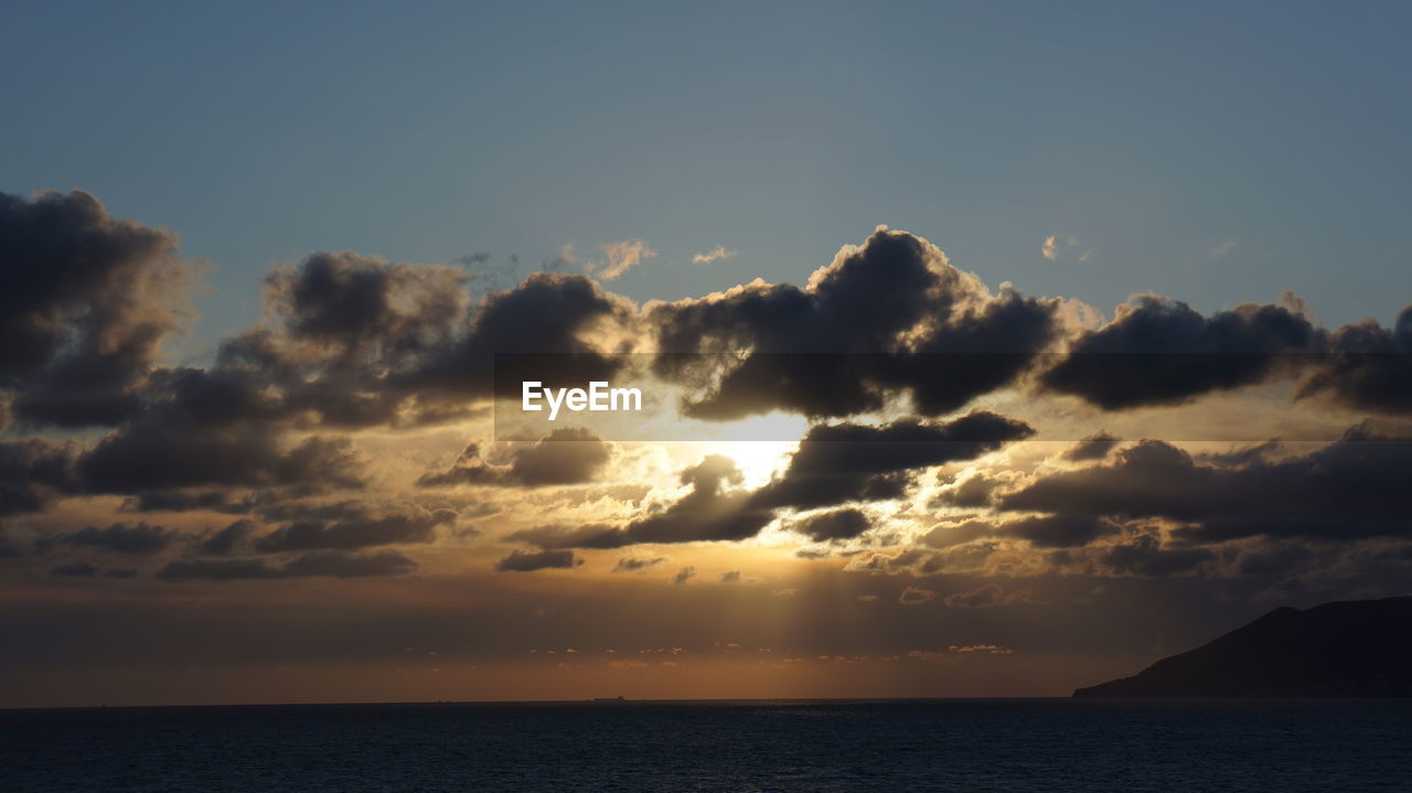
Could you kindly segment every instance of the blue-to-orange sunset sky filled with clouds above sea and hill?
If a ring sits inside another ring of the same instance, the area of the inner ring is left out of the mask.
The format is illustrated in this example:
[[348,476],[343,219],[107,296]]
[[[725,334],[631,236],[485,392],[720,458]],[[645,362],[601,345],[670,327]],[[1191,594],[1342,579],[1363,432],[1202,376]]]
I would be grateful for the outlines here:
[[0,707],[1065,696],[1405,594],[1409,14],[10,3]]

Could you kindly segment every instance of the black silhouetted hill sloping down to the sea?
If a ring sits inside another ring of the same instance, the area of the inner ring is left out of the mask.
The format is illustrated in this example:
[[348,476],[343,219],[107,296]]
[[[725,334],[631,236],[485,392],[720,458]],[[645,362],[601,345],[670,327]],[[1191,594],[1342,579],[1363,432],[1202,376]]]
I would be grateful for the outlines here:
[[1276,608],[1076,697],[1408,697],[1412,597]]

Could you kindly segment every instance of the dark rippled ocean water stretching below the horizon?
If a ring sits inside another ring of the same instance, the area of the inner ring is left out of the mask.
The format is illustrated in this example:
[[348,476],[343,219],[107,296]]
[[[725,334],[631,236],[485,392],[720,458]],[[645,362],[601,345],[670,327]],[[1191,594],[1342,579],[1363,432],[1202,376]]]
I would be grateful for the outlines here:
[[0,711],[0,792],[1412,790],[1412,701]]

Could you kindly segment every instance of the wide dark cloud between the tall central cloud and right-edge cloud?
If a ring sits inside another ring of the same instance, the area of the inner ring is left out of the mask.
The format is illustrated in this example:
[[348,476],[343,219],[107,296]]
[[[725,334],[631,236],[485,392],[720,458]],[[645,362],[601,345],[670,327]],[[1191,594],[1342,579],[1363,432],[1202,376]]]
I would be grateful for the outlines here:
[[1171,405],[1261,382],[1282,356],[1320,344],[1322,332],[1284,306],[1241,303],[1206,317],[1180,301],[1142,296],[1076,339],[1041,384],[1108,411]]

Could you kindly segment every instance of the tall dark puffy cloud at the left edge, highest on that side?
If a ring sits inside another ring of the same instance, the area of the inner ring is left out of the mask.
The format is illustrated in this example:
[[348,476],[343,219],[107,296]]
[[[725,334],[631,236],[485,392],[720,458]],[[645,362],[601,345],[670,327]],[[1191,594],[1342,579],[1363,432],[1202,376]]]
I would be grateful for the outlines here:
[[171,231],[82,190],[0,193],[0,389],[25,425],[116,425],[138,409],[162,340],[191,316]]

